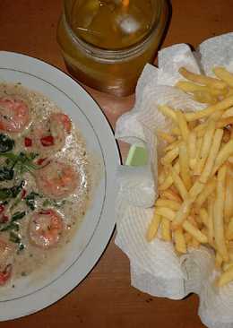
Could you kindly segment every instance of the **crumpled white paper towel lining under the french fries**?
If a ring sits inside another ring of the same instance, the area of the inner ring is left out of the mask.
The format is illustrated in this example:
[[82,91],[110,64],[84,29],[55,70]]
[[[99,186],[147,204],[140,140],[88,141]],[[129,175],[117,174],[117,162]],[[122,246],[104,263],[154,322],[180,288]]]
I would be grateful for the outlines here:
[[233,328],[233,283],[217,289],[210,248],[189,251],[178,257],[170,243],[145,240],[157,197],[156,129],[168,130],[170,122],[158,111],[158,105],[198,110],[203,105],[174,88],[182,77],[179,67],[199,73],[211,73],[214,65],[224,65],[233,73],[233,33],[208,39],[195,53],[185,44],[164,48],[159,53],[159,68],[146,65],[136,88],[134,108],[116,123],[116,139],[147,147],[150,161],[144,168],[121,167],[116,200],[116,245],[129,257],[132,285],[153,296],[184,298],[191,292],[199,295],[199,315],[210,328]]

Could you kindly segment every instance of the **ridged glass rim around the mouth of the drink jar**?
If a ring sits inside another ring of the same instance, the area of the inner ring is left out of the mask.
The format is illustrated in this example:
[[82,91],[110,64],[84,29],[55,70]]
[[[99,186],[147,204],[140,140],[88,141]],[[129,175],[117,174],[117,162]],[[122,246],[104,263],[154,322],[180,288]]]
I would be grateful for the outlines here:
[[[164,0],[162,0],[164,2]],[[145,45],[150,42],[151,37],[153,34],[158,30],[159,28],[159,22],[160,22],[160,16],[162,12],[162,6],[163,4],[158,5],[158,12],[155,16],[154,22],[151,25],[150,30],[148,30],[148,33],[146,33],[142,39],[137,41],[131,46],[123,47],[123,48],[117,48],[117,49],[107,49],[105,47],[98,47],[90,42],[87,42],[86,40],[78,37],[74,32],[70,25],[70,23],[67,21],[66,14],[64,11],[63,20],[65,23],[65,28],[68,30],[70,36],[73,39],[73,42],[77,43],[79,47],[82,48],[82,50],[89,54],[90,56],[96,56],[101,59],[114,59],[116,60],[116,57],[119,56],[122,58],[127,58],[129,56],[134,56],[134,54],[137,54],[143,50]]]

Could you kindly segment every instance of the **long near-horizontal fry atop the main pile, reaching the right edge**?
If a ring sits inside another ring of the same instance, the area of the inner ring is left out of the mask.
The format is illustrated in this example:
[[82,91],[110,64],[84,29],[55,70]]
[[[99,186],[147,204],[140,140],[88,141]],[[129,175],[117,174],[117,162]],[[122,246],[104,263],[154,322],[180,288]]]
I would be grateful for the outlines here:
[[229,98],[225,98],[219,101],[217,104],[209,106],[208,108],[198,110],[194,113],[186,113],[185,115],[186,121],[190,122],[203,117],[209,117],[212,113],[216,111],[228,109],[232,106],[233,106],[233,96],[229,96]]

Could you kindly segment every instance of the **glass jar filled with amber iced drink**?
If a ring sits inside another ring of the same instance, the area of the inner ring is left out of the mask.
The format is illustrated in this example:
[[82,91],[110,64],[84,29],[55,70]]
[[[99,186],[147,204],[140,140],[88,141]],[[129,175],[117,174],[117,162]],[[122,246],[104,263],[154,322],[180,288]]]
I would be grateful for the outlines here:
[[65,0],[57,40],[74,77],[126,96],[153,61],[167,19],[166,0]]

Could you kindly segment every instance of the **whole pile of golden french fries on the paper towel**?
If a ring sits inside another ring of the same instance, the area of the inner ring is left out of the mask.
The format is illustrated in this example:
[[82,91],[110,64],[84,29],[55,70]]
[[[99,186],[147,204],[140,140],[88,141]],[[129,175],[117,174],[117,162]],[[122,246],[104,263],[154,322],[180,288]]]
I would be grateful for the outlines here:
[[215,252],[217,281],[233,281],[233,74],[215,67],[212,78],[182,67],[176,87],[206,108],[183,112],[160,106],[173,121],[159,163],[159,198],[147,229],[149,242],[173,242],[178,255],[205,245]]

